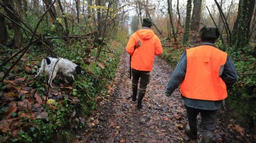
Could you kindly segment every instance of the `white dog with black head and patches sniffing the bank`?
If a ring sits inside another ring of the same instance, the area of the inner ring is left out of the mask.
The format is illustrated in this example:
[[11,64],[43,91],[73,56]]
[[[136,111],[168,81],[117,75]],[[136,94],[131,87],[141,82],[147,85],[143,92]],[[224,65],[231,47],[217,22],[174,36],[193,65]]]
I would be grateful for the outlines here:
[[[54,71],[53,71],[54,70]],[[35,78],[40,74],[40,73],[46,73],[49,81],[48,84],[52,87],[52,80],[56,77],[57,73],[62,73],[63,74],[63,80],[65,82],[68,82],[66,79],[66,76],[69,76],[74,79],[73,74],[83,74],[83,71],[80,66],[74,64],[73,62],[63,59],[63,58],[52,58],[52,57],[47,57],[42,60],[41,62],[41,67],[35,76]]]

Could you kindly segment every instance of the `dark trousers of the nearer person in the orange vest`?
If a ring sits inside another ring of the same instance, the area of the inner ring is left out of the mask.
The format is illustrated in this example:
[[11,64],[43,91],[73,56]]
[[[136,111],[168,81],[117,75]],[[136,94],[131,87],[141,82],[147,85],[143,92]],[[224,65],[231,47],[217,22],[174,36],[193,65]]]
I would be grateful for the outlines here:
[[217,120],[217,110],[202,110],[202,109],[196,109],[187,107],[187,119],[189,126],[193,125],[197,122],[197,115],[200,112],[200,115],[202,117],[201,125],[203,126],[204,130],[208,131],[214,131],[215,130],[215,123]]

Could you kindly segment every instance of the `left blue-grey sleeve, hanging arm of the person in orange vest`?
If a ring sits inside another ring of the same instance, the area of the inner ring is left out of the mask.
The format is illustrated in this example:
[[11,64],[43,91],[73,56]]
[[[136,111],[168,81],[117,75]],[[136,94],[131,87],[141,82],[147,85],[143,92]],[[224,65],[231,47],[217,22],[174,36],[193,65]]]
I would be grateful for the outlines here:
[[180,61],[168,81],[166,91],[165,91],[166,96],[170,96],[174,92],[174,90],[179,87],[179,85],[185,78],[186,69],[187,69],[187,56],[186,56],[186,52],[184,52],[181,55]]

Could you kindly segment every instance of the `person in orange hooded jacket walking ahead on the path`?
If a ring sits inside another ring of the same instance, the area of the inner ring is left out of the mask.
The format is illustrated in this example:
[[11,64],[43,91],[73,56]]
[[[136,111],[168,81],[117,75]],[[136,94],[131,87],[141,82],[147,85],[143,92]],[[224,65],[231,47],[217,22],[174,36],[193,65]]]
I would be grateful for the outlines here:
[[160,39],[151,30],[152,21],[144,18],[142,26],[141,30],[131,36],[126,46],[126,51],[131,55],[133,101],[136,101],[138,81],[140,79],[138,109],[141,109],[142,106],[142,99],[146,92],[147,83],[150,80],[150,72],[153,69],[155,55],[160,55],[163,52]]

